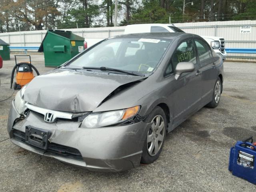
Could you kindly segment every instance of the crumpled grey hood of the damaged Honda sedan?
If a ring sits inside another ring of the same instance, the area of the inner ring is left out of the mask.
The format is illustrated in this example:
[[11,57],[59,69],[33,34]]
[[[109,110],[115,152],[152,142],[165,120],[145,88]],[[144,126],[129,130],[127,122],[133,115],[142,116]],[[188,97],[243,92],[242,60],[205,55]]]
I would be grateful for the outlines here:
[[93,111],[118,87],[144,78],[57,69],[34,78],[26,87],[24,100],[50,110]]

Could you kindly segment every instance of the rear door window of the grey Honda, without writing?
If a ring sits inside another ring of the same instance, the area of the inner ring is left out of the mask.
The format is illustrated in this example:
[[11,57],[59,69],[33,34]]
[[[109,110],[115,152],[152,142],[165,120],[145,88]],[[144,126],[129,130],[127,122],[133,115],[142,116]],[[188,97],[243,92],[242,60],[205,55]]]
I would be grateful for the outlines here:
[[198,50],[199,61],[202,65],[205,60],[211,58],[212,52],[209,48],[209,45],[203,40],[195,39],[195,42],[196,48]]

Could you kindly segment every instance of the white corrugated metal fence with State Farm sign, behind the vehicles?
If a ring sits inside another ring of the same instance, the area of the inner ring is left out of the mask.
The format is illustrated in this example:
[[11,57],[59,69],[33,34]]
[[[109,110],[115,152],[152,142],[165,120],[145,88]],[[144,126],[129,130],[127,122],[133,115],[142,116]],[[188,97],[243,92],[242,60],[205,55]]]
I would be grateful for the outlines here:
[[[256,48],[256,20],[176,23],[174,25],[188,33],[223,37],[226,40],[226,48]],[[250,26],[250,33],[241,34],[241,26]],[[123,34],[124,28],[120,26],[66,30],[84,37],[90,46],[102,38]],[[40,46],[45,34],[46,30],[9,32],[0,33],[0,39],[9,43],[10,46]],[[228,57],[256,61],[256,54],[228,54]]]

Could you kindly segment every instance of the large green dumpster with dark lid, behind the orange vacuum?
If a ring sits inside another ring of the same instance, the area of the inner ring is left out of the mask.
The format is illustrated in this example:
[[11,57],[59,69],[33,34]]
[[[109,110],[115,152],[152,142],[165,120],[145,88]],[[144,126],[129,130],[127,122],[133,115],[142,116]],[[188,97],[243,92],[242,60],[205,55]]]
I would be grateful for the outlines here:
[[84,50],[84,38],[71,31],[48,30],[38,52],[44,52],[46,67],[57,67]]

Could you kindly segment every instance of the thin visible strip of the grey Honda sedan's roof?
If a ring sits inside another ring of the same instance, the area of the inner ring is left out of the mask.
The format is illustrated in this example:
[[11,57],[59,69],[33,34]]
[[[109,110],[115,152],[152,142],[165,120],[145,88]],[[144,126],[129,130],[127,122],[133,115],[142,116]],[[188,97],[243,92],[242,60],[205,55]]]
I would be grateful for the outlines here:
[[134,34],[124,34],[124,35],[118,35],[111,38],[158,38],[158,39],[176,39],[181,36],[188,36],[191,37],[192,34],[189,33],[134,33]]

